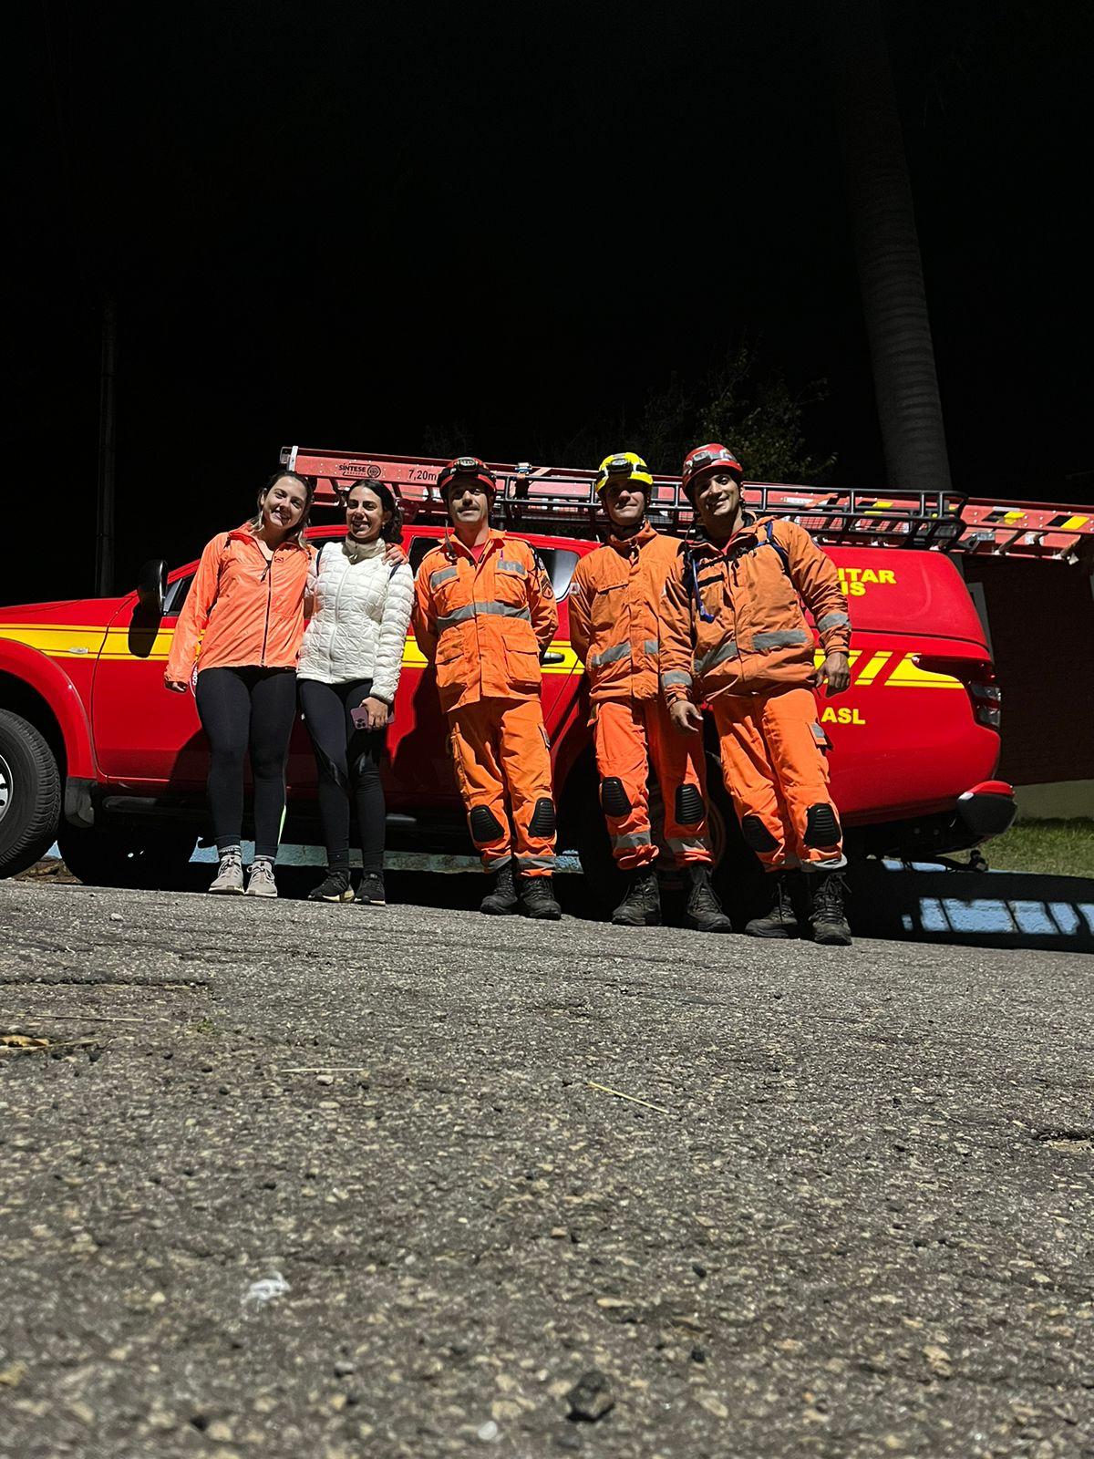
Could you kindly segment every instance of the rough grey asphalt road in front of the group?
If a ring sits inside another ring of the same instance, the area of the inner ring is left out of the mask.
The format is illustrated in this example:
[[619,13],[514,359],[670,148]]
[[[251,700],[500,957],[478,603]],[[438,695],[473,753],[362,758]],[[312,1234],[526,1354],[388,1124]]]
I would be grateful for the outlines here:
[[1094,1455],[1090,959],[0,925],[0,1453]]

